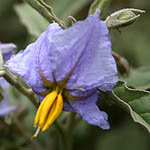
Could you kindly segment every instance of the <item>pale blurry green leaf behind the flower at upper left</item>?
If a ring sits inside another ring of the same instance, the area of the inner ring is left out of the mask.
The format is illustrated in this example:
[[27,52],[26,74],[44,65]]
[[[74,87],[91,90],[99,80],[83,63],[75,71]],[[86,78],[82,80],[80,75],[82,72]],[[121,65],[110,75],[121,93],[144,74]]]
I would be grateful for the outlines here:
[[38,37],[48,26],[48,21],[43,18],[28,4],[21,4],[15,6],[21,22],[27,27],[28,32]]

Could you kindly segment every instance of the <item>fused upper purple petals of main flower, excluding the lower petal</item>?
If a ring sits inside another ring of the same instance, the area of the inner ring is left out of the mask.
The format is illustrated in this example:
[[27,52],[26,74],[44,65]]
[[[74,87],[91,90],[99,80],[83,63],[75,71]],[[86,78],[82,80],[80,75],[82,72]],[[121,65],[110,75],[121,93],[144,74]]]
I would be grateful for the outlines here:
[[[17,62],[20,63],[17,65]],[[118,81],[108,29],[99,20],[99,12],[66,30],[56,23],[51,24],[35,43],[11,59],[7,66],[34,88],[44,86],[39,80],[38,67],[50,82],[54,81],[53,77],[62,81],[72,71],[68,89],[99,86],[110,90]]]

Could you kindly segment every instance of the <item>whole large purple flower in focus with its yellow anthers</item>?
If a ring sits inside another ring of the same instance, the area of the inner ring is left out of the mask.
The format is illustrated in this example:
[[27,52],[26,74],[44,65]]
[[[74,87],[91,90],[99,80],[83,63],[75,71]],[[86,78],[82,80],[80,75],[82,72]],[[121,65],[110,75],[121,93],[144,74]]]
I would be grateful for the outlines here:
[[96,105],[97,88],[111,91],[118,81],[109,31],[99,11],[68,29],[49,25],[24,52],[6,65],[40,97],[34,125],[46,130],[62,109],[89,124],[109,129],[108,116]]

